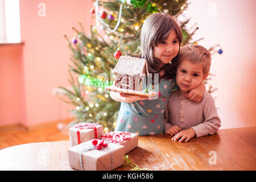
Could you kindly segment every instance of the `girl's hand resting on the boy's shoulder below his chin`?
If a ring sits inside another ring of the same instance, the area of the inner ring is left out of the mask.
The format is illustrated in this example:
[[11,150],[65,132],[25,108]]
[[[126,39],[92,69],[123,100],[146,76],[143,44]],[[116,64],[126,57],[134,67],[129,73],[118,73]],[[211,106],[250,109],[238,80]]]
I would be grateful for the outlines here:
[[194,102],[201,102],[204,97],[204,92],[205,92],[205,86],[203,83],[201,83],[195,89],[192,89],[190,90],[189,93],[185,94],[185,97],[188,100],[191,100]]

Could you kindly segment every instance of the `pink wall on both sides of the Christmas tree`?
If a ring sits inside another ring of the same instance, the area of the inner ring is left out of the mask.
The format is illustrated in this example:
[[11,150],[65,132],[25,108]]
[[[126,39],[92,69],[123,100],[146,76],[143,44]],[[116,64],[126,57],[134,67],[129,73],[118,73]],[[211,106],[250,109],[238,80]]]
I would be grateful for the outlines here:
[[[38,16],[38,4],[46,4],[46,17]],[[209,48],[221,44],[224,53],[213,55],[212,84],[218,88],[216,106],[222,129],[255,125],[255,11],[254,0],[193,0],[185,14],[191,26],[197,23],[196,37]],[[216,15],[212,5],[216,5]],[[72,107],[52,95],[57,86],[69,86],[71,51],[63,38],[72,38],[71,26],[94,23],[90,0],[20,1],[20,47],[0,47],[0,126],[26,126],[59,121],[72,116]]]

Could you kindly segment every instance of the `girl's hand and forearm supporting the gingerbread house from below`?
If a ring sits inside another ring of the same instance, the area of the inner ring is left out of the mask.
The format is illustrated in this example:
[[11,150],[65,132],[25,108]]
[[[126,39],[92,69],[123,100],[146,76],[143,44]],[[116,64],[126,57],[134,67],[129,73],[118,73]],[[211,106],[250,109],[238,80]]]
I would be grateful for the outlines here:
[[110,92],[110,97],[117,102],[135,102],[140,100],[147,100],[147,97],[131,96],[118,92]]

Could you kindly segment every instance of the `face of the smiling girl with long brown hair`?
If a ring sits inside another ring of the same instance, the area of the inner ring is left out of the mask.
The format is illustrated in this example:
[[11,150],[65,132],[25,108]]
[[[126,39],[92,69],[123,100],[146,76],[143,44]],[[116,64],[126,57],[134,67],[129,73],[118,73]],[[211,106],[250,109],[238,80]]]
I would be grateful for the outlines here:
[[177,56],[180,49],[179,40],[177,34],[172,30],[166,40],[158,43],[158,46],[154,46],[154,56],[162,61],[162,63],[170,63],[174,57]]

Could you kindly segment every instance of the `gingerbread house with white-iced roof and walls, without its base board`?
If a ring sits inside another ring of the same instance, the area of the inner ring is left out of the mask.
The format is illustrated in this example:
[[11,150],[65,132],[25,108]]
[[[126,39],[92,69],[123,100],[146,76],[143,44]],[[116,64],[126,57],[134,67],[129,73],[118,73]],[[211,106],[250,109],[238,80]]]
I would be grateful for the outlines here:
[[142,81],[148,76],[145,59],[121,56],[113,70],[117,88],[142,91]]

